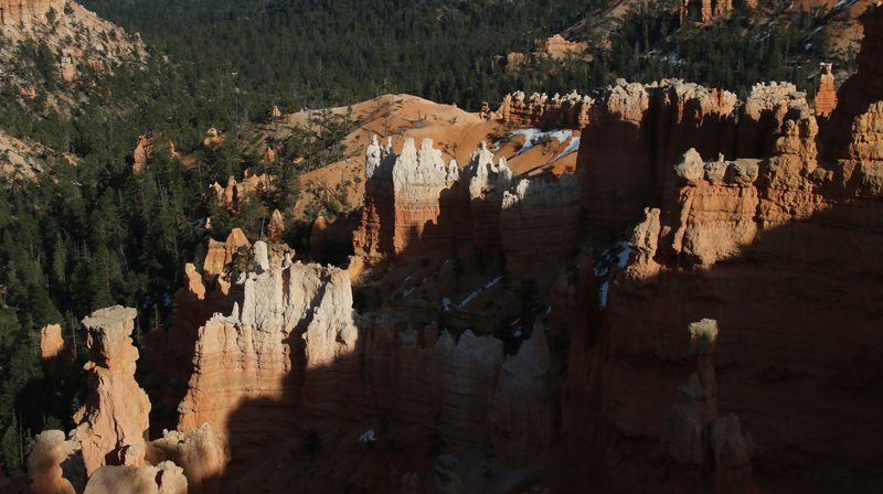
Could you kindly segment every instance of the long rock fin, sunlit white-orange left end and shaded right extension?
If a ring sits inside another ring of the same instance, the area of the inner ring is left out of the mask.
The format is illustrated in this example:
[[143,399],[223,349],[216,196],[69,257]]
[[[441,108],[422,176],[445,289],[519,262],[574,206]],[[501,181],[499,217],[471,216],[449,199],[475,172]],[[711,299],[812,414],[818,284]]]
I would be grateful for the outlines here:
[[432,325],[411,329],[406,316],[360,316],[345,270],[272,266],[266,245],[254,248],[242,299],[199,327],[178,406],[178,429],[208,423],[220,458],[234,462],[228,472],[241,473],[236,462],[280,440],[273,438],[297,433],[301,412],[433,423],[447,444],[496,441],[501,455],[522,463],[557,442],[561,400],[541,325],[523,352],[504,358],[502,342],[470,331],[439,334]]

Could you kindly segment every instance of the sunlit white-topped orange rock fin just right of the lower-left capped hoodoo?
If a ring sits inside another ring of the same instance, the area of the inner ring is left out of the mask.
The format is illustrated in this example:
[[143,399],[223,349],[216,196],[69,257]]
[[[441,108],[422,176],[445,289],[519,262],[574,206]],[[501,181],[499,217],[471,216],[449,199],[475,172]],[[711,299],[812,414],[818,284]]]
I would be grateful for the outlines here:
[[[242,301],[230,315],[215,313],[199,327],[194,373],[178,407],[182,430],[208,422],[234,453],[238,438],[255,428],[291,427],[285,410],[299,406],[301,393],[322,386],[305,384],[305,368],[317,367],[310,377],[322,382],[322,365],[352,353],[347,342],[357,333],[347,271],[299,262],[270,267],[262,245],[255,244],[262,272],[244,280]],[[276,405],[267,409],[262,400]],[[256,416],[260,421],[252,420]]]

